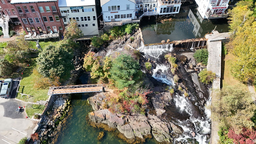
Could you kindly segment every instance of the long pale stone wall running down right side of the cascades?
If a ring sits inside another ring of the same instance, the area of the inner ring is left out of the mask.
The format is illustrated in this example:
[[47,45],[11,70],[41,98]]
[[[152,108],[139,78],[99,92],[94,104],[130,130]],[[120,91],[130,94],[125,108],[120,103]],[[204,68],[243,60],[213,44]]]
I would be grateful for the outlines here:
[[[221,47],[222,42],[226,42],[229,39],[230,33],[219,33],[218,31],[212,31],[213,34],[207,34],[205,36],[207,42],[207,50],[209,52],[207,70],[216,73],[216,79],[212,83],[211,104],[217,102],[215,99],[216,92],[214,90],[221,87]],[[217,121],[211,120],[211,138],[210,144],[217,144],[219,140],[219,126]]]

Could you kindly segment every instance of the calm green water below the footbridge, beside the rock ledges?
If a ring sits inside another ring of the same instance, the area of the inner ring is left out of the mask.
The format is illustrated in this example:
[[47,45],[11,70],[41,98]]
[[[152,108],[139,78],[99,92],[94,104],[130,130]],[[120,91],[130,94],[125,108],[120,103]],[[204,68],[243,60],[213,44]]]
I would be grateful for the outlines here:
[[[86,84],[87,75],[80,77],[82,84]],[[88,125],[86,115],[93,112],[91,105],[88,104],[88,97],[93,93],[72,95],[71,113],[67,119],[67,125],[62,128],[57,144],[126,144],[118,139],[114,133],[95,129]],[[99,132],[104,131],[105,135],[101,141],[97,140]],[[155,139],[146,141],[146,144],[156,144]]]

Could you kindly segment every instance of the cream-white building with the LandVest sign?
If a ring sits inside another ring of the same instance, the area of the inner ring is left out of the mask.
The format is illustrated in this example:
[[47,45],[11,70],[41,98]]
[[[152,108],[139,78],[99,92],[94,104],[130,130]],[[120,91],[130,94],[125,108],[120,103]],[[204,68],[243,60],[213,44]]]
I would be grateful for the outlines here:
[[94,0],[59,0],[64,25],[75,19],[84,36],[98,35],[98,23]]

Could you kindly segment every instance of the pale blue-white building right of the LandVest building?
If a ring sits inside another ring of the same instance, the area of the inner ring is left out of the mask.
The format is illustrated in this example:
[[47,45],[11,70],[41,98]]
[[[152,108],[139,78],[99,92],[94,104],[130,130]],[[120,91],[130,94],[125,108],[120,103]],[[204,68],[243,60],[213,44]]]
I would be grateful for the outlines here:
[[104,22],[135,19],[135,0],[101,0]]

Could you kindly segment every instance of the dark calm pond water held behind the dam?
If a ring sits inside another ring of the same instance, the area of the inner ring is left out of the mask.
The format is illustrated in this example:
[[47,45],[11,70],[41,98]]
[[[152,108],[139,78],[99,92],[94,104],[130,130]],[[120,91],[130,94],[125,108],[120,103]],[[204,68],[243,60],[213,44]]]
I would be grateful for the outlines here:
[[[188,6],[191,5],[191,6]],[[171,22],[156,23],[154,17],[143,17],[141,21],[141,30],[145,44],[159,43],[161,40],[170,39],[182,40],[204,37],[217,26],[219,32],[228,32],[228,20],[226,18],[202,19],[195,3],[184,3],[181,5],[180,13],[172,18]]]

